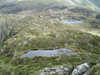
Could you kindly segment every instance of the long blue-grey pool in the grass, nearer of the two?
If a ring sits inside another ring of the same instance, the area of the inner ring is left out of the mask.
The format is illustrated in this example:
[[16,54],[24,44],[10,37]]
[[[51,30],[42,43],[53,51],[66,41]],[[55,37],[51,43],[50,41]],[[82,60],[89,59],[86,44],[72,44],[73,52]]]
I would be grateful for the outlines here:
[[60,48],[55,50],[36,50],[36,51],[29,51],[23,55],[21,55],[21,58],[29,57],[34,58],[36,56],[42,56],[42,57],[52,57],[52,56],[60,56],[60,55],[77,55],[77,53],[73,52],[72,50],[66,49],[66,48]]

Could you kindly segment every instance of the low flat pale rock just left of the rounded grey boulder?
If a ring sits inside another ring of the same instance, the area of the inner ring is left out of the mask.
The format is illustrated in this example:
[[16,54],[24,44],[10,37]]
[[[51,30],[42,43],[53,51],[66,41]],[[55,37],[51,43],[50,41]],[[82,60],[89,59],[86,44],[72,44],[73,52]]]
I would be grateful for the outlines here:
[[40,75],[69,75],[71,68],[64,66],[46,67],[41,70]]

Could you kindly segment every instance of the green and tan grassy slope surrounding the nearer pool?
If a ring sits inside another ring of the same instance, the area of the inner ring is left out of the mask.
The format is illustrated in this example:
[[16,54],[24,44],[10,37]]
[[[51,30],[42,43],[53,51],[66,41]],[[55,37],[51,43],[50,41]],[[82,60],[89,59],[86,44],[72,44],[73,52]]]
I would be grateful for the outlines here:
[[[13,18],[14,35],[4,43],[3,49],[7,51],[0,57],[1,75],[2,73],[39,75],[39,70],[47,66],[72,67],[83,62],[98,62],[100,53],[100,37],[98,36],[80,32],[75,27],[71,28],[69,25],[57,22],[59,18],[52,19],[50,16],[7,17]],[[16,57],[29,50],[55,48],[69,48],[77,52],[79,56],[36,57],[34,59]],[[94,75],[99,73],[98,67],[95,68],[94,73]]]

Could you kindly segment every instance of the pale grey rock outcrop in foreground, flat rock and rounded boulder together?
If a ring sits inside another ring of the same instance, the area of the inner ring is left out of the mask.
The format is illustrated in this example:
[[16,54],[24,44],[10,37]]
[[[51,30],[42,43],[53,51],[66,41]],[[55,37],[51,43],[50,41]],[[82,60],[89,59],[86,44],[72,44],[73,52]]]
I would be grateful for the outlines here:
[[75,68],[64,67],[64,66],[55,66],[55,67],[46,67],[41,70],[40,75],[93,75],[92,67],[96,65],[95,63],[83,63]]

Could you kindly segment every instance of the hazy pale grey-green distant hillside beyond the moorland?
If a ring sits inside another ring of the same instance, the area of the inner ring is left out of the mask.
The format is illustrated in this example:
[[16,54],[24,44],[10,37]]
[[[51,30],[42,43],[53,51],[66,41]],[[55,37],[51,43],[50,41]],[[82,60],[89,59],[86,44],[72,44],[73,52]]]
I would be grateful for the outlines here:
[[70,6],[98,9],[90,0],[0,0],[0,13],[17,13],[26,10],[42,11],[52,6],[57,9]]

